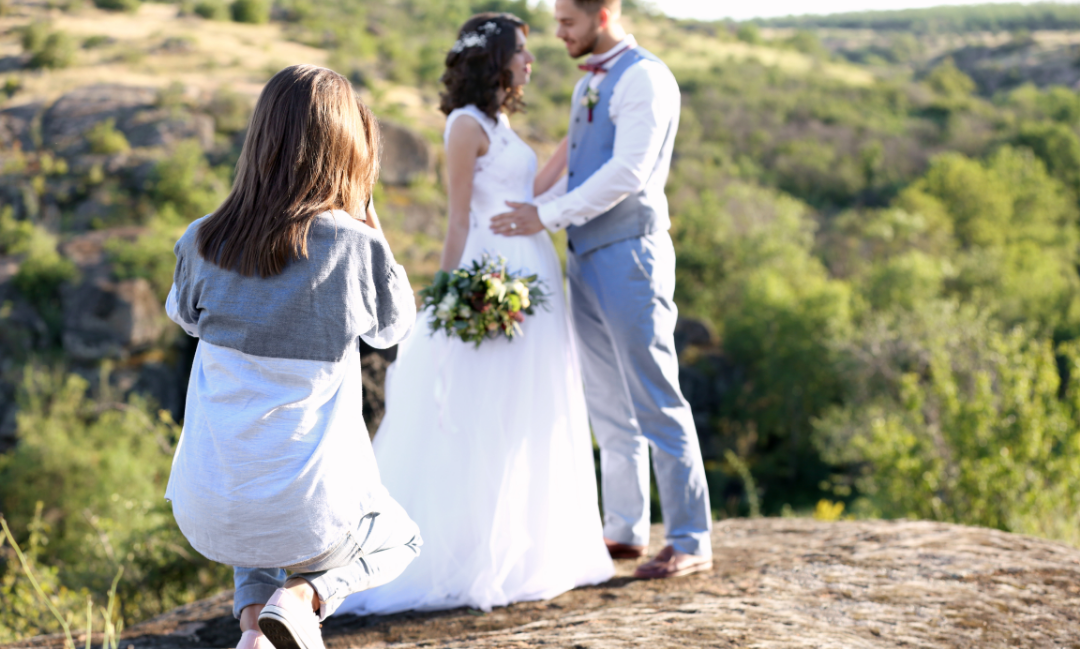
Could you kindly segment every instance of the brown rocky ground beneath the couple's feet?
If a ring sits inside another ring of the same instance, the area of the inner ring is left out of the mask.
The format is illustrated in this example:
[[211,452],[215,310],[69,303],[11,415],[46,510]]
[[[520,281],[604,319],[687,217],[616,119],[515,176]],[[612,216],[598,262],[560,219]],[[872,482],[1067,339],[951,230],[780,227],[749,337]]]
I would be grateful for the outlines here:
[[[490,613],[334,618],[326,644],[1080,648],[1080,551],[1057,543],[935,523],[761,518],[718,523],[713,547],[707,573],[637,581],[621,562],[607,583]],[[230,605],[225,593],[184,607],[129,630],[121,647],[232,647]]]

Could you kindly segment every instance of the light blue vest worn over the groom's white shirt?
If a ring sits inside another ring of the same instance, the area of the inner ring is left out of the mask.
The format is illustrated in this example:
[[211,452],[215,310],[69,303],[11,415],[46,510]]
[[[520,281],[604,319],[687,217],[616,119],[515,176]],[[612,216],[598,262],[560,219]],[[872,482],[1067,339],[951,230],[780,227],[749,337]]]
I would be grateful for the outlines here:
[[[644,59],[660,63],[660,59],[652,54],[642,48],[635,48],[620,56],[615,66],[608,70],[598,89],[599,99],[593,108],[592,122],[589,121],[589,108],[581,105],[588,85],[582,84],[582,91],[575,96],[570,113],[567,191],[573,191],[607,161],[611,160],[615,152],[616,129],[608,112],[611,92],[623,72]],[[677,127],[678,118],[676,116],[666,125],[669,139],[675,137]],[[667,200],[663,195],[661,185],[659,189],[646,188],[636,194],[626,197],[621,203],[585,225],[568,227],[566,233],[570,240],[570,249],[577,255],[584,255],[618,241],[644,236],[652,232],[667,230],[670,227]]]

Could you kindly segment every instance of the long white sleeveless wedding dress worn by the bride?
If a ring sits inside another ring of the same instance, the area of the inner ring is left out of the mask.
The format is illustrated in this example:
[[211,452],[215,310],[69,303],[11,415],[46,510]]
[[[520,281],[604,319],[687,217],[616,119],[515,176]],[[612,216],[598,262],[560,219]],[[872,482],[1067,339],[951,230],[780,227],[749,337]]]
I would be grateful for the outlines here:
[[501,236],[505,201],[531,202],[536,153],[473,106],[490,139],[477,159],[461,266],[502,255],[550,295],[513,341],[480,348],[431,335],[421,312],[387,377],[375,436],[382,483],[420,527],[423,547],[396,580],[339,612],[390,613],[546,599],[613,574],[604,544],[592,441],[558,257],[545,231]]

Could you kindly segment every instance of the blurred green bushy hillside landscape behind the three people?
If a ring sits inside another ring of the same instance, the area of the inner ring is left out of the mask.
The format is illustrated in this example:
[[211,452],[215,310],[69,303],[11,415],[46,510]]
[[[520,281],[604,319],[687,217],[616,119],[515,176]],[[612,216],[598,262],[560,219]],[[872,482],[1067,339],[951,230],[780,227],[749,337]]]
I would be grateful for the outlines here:
[[[406,158],[376,200],[420,285],[444,228],[441,62],[490,9],[534,25],[512,123],[543,159],[579,71],[523,0],[0,3],[0,512],[64,611],[120,567],[129,622],[228,585],[160,499],[193,353],[160,303],[260,85],[299,62],[349,77]],[[1075,9],[762,26],[630,6],[683,93],[680,380],[717,516],[759,503],[1080,542]],[[0,556],[0,641],[55,631]]]

